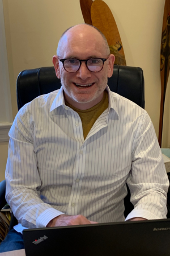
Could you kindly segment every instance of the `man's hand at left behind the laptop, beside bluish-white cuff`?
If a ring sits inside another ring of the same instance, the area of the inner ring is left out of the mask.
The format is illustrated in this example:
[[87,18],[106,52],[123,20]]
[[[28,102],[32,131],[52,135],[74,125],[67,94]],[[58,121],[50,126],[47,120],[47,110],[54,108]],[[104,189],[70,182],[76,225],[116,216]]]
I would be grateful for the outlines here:
[[95,221],[87,220],[83,215],[65,215],[61,214],[56,218],[53,218],[46,227],[52,226],[73,226],[73,225],[85,225],[85,224],[97,224]]

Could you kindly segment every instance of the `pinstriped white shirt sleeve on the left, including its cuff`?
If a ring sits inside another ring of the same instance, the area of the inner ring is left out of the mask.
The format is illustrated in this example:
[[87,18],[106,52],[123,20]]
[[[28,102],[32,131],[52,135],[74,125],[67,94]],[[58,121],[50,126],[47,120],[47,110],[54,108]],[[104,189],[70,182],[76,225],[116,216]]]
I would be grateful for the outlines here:
[[33,149],[33,126],[30,125],[30,119],[25,105],[16,115],[9,131],[6,201],[22,226],[41,228],[63,213],[41,200],[41,178]]

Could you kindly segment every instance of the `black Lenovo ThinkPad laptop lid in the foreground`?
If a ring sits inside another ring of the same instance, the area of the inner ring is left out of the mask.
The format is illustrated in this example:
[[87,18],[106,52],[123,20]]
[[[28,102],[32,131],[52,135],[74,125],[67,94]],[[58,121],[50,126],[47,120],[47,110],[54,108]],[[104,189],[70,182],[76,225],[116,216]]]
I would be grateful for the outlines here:
[[25,229],[26,256],[169,256],[170,219]]

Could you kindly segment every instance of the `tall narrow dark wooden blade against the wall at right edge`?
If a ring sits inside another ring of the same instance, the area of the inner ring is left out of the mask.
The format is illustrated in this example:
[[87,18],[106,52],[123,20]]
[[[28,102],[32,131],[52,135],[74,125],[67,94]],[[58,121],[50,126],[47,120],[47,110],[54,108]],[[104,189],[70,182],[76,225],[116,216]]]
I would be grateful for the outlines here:
[[169,77],[170,67],[170,0],[165,0],[162,40],[160,49],[160,78],[161,78],[161,101],[160,101],[160,119],[159,119],[159,146],[162,146],[162,129],[164,116],[165,94]]

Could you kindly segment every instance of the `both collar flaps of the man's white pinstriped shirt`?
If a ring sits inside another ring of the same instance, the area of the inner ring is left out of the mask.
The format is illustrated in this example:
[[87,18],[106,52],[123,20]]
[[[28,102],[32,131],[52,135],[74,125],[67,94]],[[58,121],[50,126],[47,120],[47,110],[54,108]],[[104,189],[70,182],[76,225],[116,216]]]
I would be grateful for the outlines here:
[[[118,115],[116,102],[114,100],[113,93],[111,92],[108,85],[107,85],[106,90],[108,92],[108,99],[109,99],[108,113],[109,113],[110,109],[113,109]],[[63,97],[63,88],[61,86],[61,88],[58,90],[57,96],[53,100],[52,106],[50,108],[50,112],[52,112],[54,109],[56,109],[56,108],[58,108],[59,106],[62,106],[62,105],[65,106],[65,98]]]

